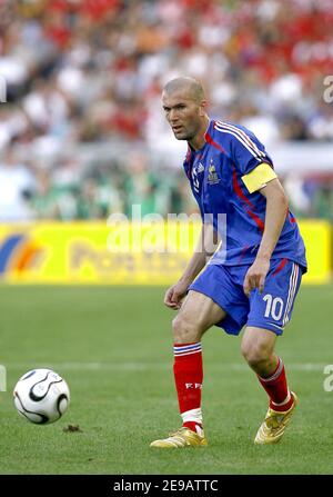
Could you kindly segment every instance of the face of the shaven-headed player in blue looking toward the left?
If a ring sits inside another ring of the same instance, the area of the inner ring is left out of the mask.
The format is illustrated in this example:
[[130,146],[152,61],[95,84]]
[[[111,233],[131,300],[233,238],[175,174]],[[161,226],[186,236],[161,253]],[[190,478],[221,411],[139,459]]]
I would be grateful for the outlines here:
[[186,95],[186,91],[163,93],[163,109],[167,120],[178,140],[192,140],[202,125],[203,107]]

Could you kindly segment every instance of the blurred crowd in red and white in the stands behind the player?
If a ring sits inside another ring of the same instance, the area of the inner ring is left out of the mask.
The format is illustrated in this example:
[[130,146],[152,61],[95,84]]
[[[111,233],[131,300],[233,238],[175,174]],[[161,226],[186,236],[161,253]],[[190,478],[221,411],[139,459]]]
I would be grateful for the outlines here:
[[[159,167],[151,160],[176,146],[160,97],[180,74],[203,82],[213,118],[243,123],[268,148],[333,139],[323,99],[331,0],[0,6],[0,220],[95,219],[130,215],[133,203],[143,213],[194,210],[181,168],[168,167],[165,153]],[[89,160],[72,152],[91,143]],[[99,157],[103,143],[128,152]],[[297,181],[297,212],[333,219],[332,178],[293,179],[291,196]]]

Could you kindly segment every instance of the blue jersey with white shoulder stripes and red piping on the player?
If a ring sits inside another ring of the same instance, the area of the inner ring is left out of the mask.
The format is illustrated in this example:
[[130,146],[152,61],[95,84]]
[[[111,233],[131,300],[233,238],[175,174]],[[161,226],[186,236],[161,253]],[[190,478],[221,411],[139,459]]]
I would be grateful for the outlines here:
[[[266,199],[260,191],[250,193],[242,177],[264,162],[273,168],[264,146],[245,127],[231,122],[211,120],[204,146],[196,151],[189,148],[184,170],[202,219],[212,222],[224,240],[223,258],[218,250],[213,264],[254,261],[264,231]],[[290,210],[272,255],[272,259],[283,258],[306,271],[304,242]]]

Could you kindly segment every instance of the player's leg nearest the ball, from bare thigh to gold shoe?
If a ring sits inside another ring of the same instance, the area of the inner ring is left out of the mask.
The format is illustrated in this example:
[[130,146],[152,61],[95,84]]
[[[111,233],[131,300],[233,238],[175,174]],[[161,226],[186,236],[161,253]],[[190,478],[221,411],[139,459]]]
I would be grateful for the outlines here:
[[190,290],[173,319],[173,374],[183,426],[175,434],[155,440],[151,447],[204,446],[201,389],[203,382],[201,338],[226,316],[210,297]]

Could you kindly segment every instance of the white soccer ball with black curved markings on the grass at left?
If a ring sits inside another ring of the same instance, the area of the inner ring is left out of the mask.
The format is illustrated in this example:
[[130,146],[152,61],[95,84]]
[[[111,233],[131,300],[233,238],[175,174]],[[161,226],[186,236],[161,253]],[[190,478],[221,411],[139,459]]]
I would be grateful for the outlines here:
[[13,397],[19,415],[38,425],[57,421],[70,402],[67,382],[51,369],[26,372],[17,382]]

